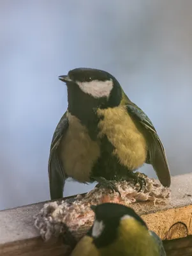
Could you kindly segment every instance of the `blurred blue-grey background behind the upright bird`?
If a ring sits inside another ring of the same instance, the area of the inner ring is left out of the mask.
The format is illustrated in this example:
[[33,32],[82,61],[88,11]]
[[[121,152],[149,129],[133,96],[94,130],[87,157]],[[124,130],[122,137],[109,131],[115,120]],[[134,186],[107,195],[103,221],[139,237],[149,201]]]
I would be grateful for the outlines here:
[[[47,162],[67,108],[58,76],[114,74],[151,118],[172,175],[192,165],[192,1],[0,2],[0,209],[49,199]],[[155,177],[151,166],[143,172]],[[64,195],[91,189],[67,182]]]

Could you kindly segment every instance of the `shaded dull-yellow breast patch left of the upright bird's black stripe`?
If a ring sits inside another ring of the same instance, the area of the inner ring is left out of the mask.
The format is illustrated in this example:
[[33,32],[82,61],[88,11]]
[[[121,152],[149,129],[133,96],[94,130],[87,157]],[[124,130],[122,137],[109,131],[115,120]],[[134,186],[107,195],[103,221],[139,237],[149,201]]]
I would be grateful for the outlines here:
[[69,127],[61,141],[61,160],[66,174],[79,182],[89,182],[92,166],[100,156],[98,141],[92,141],[87,128],[68,113]]

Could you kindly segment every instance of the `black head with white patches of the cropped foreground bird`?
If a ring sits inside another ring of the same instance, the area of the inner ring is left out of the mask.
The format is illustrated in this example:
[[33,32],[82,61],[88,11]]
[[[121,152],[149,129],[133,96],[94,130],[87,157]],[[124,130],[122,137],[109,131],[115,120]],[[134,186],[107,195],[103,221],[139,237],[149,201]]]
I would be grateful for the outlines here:
[[91,209],[94,211],[95,219],[88,235],[92,236],[93,243],[98,248],[113,243],[117,237],[119,223],[122,220],[131,219],[147,228],[142,218],[133,209],[125,205],[105,203],[92,205]]

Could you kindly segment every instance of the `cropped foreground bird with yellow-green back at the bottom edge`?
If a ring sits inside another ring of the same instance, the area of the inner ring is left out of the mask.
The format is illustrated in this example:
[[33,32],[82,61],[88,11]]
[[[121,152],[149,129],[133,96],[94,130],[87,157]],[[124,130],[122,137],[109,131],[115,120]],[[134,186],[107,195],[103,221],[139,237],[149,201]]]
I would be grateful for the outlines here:
[[144,220],[124,205],[92,205],[94,223],[71,256],[166,256],[161,239]]

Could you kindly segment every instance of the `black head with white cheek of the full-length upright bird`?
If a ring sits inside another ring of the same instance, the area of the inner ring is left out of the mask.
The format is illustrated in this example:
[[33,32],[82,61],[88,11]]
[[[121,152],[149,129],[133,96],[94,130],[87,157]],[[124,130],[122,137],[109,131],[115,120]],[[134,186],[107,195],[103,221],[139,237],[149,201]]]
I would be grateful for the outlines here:
[[[114,76],[95,68],[75,68],[66,76],[59,76],[68,87],[70,108],[84,104],[85,108],[108,108],[119,106],[122,97],[121,86]],[[71,105],[73,105],[71,107]]]

